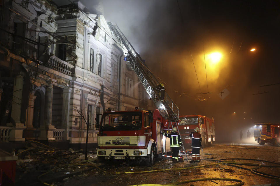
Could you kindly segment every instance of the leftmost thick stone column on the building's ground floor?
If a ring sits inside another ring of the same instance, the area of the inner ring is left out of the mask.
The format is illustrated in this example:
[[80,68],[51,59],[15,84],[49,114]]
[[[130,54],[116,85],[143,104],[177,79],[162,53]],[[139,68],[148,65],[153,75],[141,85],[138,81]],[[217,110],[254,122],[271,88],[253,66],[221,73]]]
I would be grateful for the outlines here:
[[22,89],[23,89],[23,72],[20,72],[14,81],[13,102],[11,117],[15,123],[20,123],[21,103],[22,103]]

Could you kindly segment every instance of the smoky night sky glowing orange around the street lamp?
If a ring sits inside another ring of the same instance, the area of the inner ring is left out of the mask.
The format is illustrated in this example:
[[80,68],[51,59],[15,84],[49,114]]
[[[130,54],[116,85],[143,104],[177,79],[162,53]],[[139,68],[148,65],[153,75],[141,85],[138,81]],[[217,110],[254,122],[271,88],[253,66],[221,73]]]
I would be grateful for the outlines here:
[[[262,86],[280,83],[280,1],[81,1],[120,27],[181,114],[214,117],[218,140],[238,137],[254,122],[280,122],[280,84]],[[212,52],[222,54],[217,64]],[[222,100],[225,87],[230,94]]]

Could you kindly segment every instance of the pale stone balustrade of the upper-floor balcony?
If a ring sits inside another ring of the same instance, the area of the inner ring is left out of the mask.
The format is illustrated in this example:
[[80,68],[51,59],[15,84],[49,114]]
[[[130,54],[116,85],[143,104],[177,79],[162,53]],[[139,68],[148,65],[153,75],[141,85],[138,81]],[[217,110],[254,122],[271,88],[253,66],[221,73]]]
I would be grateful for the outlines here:
[[54,70],[67,74],[69,76],[71,76],[71,73],[72,73],[71,69],[74,68],[74,65],[71,65],[70,63],[67,63],[66,61],[63,61],[56,56],[50,57],[50,59],[47,63],[47,66],[49,68],[52,68]]

